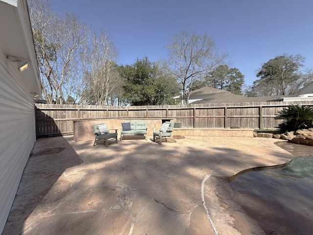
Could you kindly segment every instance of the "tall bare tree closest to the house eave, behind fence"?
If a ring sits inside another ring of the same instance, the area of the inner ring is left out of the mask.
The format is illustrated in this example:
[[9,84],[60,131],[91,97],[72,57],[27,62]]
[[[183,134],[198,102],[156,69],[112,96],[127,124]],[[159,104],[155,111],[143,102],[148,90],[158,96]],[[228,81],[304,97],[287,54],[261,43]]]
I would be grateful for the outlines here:
[[59,104],[69,96],[76,100],[89,27],[75,14],[53,13],[47,0],[29,0],[29,8],[45,99]]

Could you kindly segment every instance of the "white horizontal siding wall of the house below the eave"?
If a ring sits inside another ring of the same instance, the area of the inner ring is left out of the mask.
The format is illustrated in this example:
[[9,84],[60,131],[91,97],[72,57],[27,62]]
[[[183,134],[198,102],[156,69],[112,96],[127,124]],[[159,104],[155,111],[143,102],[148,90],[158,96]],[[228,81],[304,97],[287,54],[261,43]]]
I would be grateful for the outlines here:
[[21,74],[0,47],[0,231],[36,141],[33,99]]

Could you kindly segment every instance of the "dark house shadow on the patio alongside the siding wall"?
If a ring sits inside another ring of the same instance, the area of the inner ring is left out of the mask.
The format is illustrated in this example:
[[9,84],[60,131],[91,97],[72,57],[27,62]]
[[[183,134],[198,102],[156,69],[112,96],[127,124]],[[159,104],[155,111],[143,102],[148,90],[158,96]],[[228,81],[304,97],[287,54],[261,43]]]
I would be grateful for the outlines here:
[[2,235],[23,234],[25,221],[33,211],[40,210],[43,199],[58,184],[63,172],[82,163],[64,137],[37,140],[24,168]]

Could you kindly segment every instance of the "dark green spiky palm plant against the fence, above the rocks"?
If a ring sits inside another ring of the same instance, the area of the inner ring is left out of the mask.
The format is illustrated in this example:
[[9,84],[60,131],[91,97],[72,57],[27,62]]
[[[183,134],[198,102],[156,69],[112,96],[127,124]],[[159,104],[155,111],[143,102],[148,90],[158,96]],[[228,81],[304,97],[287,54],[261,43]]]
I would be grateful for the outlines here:
[[283,122],[278,125],[283,132],[308,129],[313,126],[313,108],[292,104],[278,111],[276,119],[283,119]]

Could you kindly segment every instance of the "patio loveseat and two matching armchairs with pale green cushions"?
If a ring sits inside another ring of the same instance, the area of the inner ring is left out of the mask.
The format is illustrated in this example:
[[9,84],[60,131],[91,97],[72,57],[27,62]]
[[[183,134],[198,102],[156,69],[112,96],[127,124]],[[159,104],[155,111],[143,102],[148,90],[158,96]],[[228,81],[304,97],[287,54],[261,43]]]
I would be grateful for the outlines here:
[[[128,121],[121,123],[121,136],[120,141],[122,141],[123,137],[125,140],[125,135],[142,135],[145,136],[145,140],[147,140],[147,130],[148,123],[147,121]],[[159,140],[159,144],[162,144],[162,139],[167,141],[168,138],[173,140],[172,132],[174,128],[174,122],[165,121],[159,130],[153,129],[153,141]],[[117,129],[109,129],[105,123],[98,123],[93,125],[94,132],[94,142],[93,146],[97,143],[96,141],[104,141],[106,147],[109,146],[109,141],[115,141],[117,143]]]

